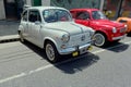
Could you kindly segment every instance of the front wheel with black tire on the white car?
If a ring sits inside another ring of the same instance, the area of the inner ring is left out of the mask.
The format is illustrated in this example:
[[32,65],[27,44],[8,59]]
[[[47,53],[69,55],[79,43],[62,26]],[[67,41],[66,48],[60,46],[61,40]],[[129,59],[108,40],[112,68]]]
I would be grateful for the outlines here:
[[60,54],[58,53],[56,46],[51,41],[46,42],[45,52],[49,62],[58,62]]

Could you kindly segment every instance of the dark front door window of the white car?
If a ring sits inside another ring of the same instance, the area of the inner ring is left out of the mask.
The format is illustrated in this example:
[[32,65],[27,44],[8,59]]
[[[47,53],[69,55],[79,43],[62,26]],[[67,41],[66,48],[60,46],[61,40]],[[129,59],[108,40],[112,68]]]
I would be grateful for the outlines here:
[[40,18],[40,14],[38,11],[34,10],[34,11],[29,11],[29,14],[28,14],[28,21],[29,22],[36,22],[36,21],[39,21],[41,22],[41,18]]

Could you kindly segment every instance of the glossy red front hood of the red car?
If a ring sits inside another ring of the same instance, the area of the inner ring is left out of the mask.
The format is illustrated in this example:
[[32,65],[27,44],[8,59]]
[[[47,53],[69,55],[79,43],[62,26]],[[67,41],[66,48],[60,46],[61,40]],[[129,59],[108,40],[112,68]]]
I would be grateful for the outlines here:
[[105,26],[105,27],[123,27],[124,25],[115,21],[109,21],[109,20],[98,20],[98,21],[93,21],[95,25],[98,26]]

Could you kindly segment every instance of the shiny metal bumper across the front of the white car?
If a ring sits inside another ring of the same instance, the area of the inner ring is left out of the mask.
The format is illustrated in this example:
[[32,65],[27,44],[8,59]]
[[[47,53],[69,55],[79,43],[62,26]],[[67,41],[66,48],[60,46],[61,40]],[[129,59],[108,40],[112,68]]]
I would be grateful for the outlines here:
[[60,50],[59,53],[60,54],[70,54],[70,53],[73,53],[75,51],[78,51],[80,53],[85,53],[87,50],[91,50],[91,46],[92,46],[92,44],[70,47],[70,48],[66,48],[66,49]]

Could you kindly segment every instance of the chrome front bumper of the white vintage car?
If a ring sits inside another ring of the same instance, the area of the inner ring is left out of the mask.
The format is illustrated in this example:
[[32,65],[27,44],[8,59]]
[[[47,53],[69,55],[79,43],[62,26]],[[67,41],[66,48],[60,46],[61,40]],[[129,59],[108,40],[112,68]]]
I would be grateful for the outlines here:
[[75,47],[71,47],[71,48],[67,48],[67,49],[62,49],[59,51],[60,54],[70,54],[74,51],[81,51],[82,49],[88,49],[91,47],[92,44],[86,44],[83,46],[75,46]]

